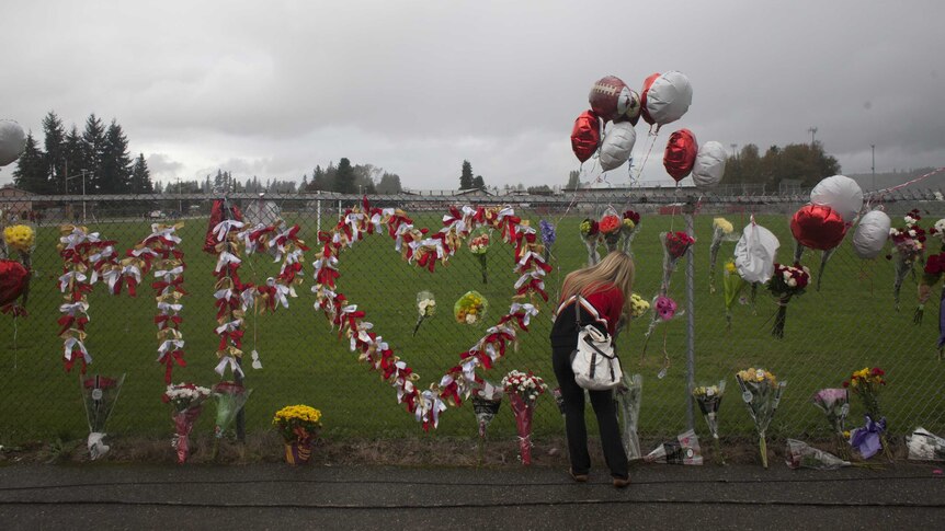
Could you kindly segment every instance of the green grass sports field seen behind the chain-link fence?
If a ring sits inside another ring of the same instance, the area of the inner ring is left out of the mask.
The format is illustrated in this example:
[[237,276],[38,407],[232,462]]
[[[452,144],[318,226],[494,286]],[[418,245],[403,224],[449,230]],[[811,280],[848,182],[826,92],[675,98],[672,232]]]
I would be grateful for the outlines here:
[[[537,224],[538,216],[520,212]],[[315,242],[312,218],[286,216],[289,222],[303,227],[301,236]],[[558,241],[553,251],[555,270],[547,279],[549,292],[557,292],[560,280],[568,272],[581,266],[587,258],[578,235],[581,217],[559,220]],[[881,257],[863,262],[850,249],[849,238],[828,265],[823,289],[813,289],[793,300],[787,311],[785,338],[776,340],[770,335],[771,318],[775,312],[772,298],[759,290],[756,314],[748,305],[735,309],[735,324],[726,330],[721,293],[721,264],[731,254],[733,244],[722,246],[719,257],[717,285],[719,291],[708,289],[708,244],[711,236],[711,216],[697,216],[695,231],[695,377],[696,382],[726,378],[730,399],[721,408],[720,425],[724,435],[749,437],[752,427],[739,394],[733,373],[750,366],[772,370],[788,380],[781,408],[770,428],[774,437],[826,436],[826,423],[810,404],[815,391],[824,386],[839,386],[850,371],[864,366],[878,365],[889,373],[889,385],[881,399],[893,432],[902,434],[915,426],[933,431],[945,428],[945,383],[943,365],[934,348],[937,337],[937,303],[929,304],[926,320],[921,326],[912,324],[915,284],[907,279],[902,288],[903,311],[892,307],[892,265]],[[727,216],[737,229],[748,221],[744,215]],[[557,220],[555,217],[549,217]],[[440,215],[414,216],[418,226],[439,227]],[[784,216],[759,216],[759,222],[775,232],[782,241],[779,257],[789,262],[794,244],[789,236],[788,219]],[[326,221],[327,224],[327,221]],[[103,236],[119,242],[127,249],[147,235],[145,222],[90,224]],[[662,252],[660,231],[683,230],[680,216],[646,216],[634,244],[637,261],[637,291],[651,297],[659,286]],[[214,335],[215,309],[213,298],[214,259],[200,251],[206,230],[205,219],[187,220],[181,231],[187,270],[185,287],[190,296],[183,299],[185,310],[182,331],[186,340],[186,368],[174,371],[174,381],[194,381],[209,385],[218,380],[213,368],[217,337]],[[30,312],[26,320],[16,322],[16,345],[13,347],[13,322],[0,316],[0,443],[27,439],[78,439],[87,434],[82,403],[78,389],[77,371],[65,373],[61,366],[61,343],[56,336],[56,319],[60,295],[56,278],[60,274],[59,257],[55,251],[58,232],[42,228],[34,254]],[[451,408],[442,418],[435,434],[424,435],[420,425],[396,402],[394,390],[376,372],[356,361],[348,350],[346,340],[339,340],[337,332],[320,312],[312,310],[314,297],[309,292],[310,263],[315,251],[306,256],[306,285],[292,308],[274,314],[248,319],[246,350],[253,345],[259,350],[264,369],[247,369],[247,385],[253,395],[247,404],[249,430],[269,429],[272,414],[280,407],[306,403],[325,414],[328,437],[435,437],[475,436],[471,407]],[[489,284],[482,285],[479,265],[468,252],[451,258],[449,266],[435,274],[408,266],[395,253],[392,241],[386,236],[372,236],[360,242],[342,255],[342,278],[339,291],[367,312],[367,320],[390,343],[399,356],[421,374],[422,386],[439,381],[440,376],[458,361],[458,354],[479,338],[481,328],[455,324],[453,302],[469,289],[479,290],[490,303],[490,316],[504,313],[510,303],[513,261],[511,247],[496,244],[488,254]],[[817,272],[819,255],[805,255],[805,264]],[[671,295],[685,308],[685,261],[675,273]],[[244,280],[263,281],[277,272],[271,258],[258,256],[247,261],[241,275]],[[433,291],[439,313],[424,322],[415,337],[411,331],[417,319],[415,293]],[[109,423],[112,434],[167,437],[171,429],[169,407],[161,403],[164,384],[163,368],[157,358],[153,291],[143,286],[136,300],[126,295],[112,297],[101,287],[90,297],[91,323],[87,345],[94,357],[90,373],[127,373],[121,399]],[[487,378],[497,381],[511,369],[531,369],[555,386],[550,370],[548,332],[553,303],[542,305],[542,314],[530,334],[523,334],[516,350],[509,351]],[[647,318],[648,319],[648,318]],[[684,429],[686,424],[686,318],[662,324],[650,342],[648,355],[641,359],[645,322],[631,323],[620,336],[619,351],[627,371],[644,376],[642,418],[640,431],[646,435],[670,435]],[[664,379],[657,372],[662,365],[663,344],[671,360]],[[247,362],[247,365],[249,365]],[[212,413],[213,407],[207,409]],[[514,422],[508,407],[493,424],[493,432],[511,435]],[[853,425],[859,424],[862,408],[854,404]],[[696,413],[698,417],[698,414]],[[592,415],[589,415],[592,417]],[[195,431],[212,430],[212,415],[205,414]],[[539,401],[535,417],[535,431],[560,434],[561,418],[550,396]],[[705,434],[704,423],[696,418],[696,428]]]

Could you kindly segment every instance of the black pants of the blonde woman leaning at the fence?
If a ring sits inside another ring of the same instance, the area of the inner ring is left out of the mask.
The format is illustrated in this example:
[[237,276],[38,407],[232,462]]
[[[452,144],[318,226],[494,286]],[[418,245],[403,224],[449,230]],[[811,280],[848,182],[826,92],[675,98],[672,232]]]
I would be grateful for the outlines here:
[[[588,453],[588,426],[584,424],[584,390],[574,382],[571,370],[571,348],[557,348],[551,351],[551,365],[561,386],[565,401],[565,431],[568,436],[568,453],[571,470],[576,474],[587,474],[591,470],[591,455]],[[601,446],[604,460],[614,477],[626,478],[627,453],[617,426],[617,407],[613,391],[589,391],[591,405],[601,428]]]

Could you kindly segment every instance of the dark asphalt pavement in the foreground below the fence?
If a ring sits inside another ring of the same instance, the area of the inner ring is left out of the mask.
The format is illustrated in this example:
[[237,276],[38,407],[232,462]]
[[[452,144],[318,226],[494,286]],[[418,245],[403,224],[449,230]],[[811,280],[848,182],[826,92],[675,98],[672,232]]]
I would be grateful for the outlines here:
[[943,529],[937,469],[648,465],[618,490],[548,467],[10,465],[0,529]]

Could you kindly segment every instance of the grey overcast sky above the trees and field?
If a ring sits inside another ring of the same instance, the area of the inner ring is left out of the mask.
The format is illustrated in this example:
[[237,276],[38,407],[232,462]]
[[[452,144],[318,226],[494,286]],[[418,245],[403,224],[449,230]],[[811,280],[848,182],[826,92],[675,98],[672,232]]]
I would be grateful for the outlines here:
[[762,151],[817,127],[847,174],[869,172],[870,145],[877,172],[941,166],[943,15],[941,0],[0,2],[0,118],[39,141],[49,111],[67,128],[115,118],[166,182],[301,180],[348,157],[410,188],[455,187],[464,159],[488,185],[562,185],[595,80],[639,92],[679,70],[692,106],[646,164],[637,125],[645,181],[669,180],[682,127]]

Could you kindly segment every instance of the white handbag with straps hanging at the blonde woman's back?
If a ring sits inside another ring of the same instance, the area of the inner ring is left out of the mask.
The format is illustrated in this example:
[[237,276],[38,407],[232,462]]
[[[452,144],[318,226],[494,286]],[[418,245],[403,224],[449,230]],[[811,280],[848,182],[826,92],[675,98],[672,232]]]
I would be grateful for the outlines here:
[[574,301],[578,347],[571,354],[574,381],[583,389],[607,391],[620,384],[624,372],[611,335],[593,325],[581,326],[581,298]]

